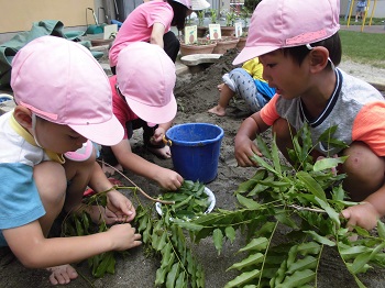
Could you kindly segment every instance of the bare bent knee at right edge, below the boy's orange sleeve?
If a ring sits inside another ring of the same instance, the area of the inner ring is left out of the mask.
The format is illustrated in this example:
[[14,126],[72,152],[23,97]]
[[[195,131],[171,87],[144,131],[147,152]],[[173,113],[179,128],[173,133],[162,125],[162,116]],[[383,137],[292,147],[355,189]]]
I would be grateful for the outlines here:
[[342,171],[348,176],[343,188],[353,201],[362,201],[384,185],[385,160],[366,144],[354,142],[343,151],[343,155],[349,156],[342,165]]

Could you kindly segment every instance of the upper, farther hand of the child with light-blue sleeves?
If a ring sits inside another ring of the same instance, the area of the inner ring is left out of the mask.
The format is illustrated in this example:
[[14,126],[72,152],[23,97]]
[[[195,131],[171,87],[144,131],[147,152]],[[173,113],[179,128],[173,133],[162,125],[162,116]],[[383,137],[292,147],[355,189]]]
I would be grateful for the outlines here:
[[106,213],[107,210],[109,213],[113,213],[117,222],[130,222],[135,218],[135,208],[124,195],[112,190],[107,193],[107,197]]

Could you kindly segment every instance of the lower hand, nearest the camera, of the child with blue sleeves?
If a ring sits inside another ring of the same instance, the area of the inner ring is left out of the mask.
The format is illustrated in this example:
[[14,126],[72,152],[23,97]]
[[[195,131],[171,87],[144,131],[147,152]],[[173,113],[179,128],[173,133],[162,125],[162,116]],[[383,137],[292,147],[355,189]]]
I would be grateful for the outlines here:
[[141,234],[130,224],[116,224],[107,231],[111,237],[112,250],[124,251],[142,244]]

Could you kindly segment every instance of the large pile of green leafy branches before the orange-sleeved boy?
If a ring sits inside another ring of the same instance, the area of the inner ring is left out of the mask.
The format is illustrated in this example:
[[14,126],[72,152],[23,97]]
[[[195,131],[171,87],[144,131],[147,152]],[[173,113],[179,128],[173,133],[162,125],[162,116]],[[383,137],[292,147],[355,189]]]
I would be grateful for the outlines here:
[[[320,141],[345,147],[332,140],[334,131],[336,128],[326,131]],[[385,266],[385,229],[381,221],[378,235],[358,226],[353,231],[344,228],[340,212],[356,203],[346,201],[342,188],[345,175],[336,175],[333,169],[345,157],[327,157],[314,164],[307,126],[293,136],[294,148],[288,151],[293,166],[282,164],[275,139],[271,148],[261,137],[256,142],[264,158],[253,156],[261,168],[235,191],[240,208],[218,209],[177,224],[190,231],[196,242],[212,236],[219,253],[224,241],[234,241],[237,229],[246,232],[248,244],[239,251],[245,257],[229,267],[240,275],[226,288],[317,286],[324,246],[337,248],[358,286],[364,287],[359,275],[373,265]],[[277,234],[280,230],[287,231],[284,241],[282,232]],[[358,240],[351,241],[352,236]]]

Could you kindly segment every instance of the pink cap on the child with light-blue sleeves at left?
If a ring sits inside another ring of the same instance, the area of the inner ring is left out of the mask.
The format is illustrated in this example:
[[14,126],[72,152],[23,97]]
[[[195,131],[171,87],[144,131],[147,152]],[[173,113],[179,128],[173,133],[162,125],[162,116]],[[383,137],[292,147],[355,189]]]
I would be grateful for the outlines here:
[[80,44],[55,36],[30,42],[13,58],[11,87],[18,104],[50,122],[102,145],[123,139],[108,77]]

